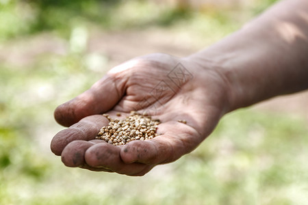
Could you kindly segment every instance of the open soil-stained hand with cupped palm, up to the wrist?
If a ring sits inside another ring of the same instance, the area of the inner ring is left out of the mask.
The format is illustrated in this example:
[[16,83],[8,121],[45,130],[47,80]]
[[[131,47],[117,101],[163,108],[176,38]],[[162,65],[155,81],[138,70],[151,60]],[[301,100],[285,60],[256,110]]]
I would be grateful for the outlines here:
[[[57,107],[55,120],[70,127],[55,135],[51,150],[68,167],[142,176],[194,150],[227,106],[227,85],[214,68],[166,54],[146,55],[116,66],[90,90]],[[162,135],[125,146],[95,139],[109,122],[102,113],[114,117],[132,110],[158,118]]]

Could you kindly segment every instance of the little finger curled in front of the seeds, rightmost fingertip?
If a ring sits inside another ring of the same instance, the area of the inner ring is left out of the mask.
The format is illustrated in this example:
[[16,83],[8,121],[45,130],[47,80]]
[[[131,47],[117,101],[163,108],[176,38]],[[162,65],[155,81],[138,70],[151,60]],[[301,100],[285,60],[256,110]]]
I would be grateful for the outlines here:
[[151,140],[131,141],[123,147],[120,157],[124,163],[162,164],[179,159],[196,148],[201,137],[190,126],[179,122],[160,124],[159,135]]

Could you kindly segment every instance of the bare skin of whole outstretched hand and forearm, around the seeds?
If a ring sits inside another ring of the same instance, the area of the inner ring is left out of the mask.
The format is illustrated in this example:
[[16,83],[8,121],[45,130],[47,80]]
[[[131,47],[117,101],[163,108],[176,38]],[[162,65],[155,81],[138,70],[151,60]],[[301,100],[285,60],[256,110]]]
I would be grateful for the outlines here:
[[[204,51],[184,58],[145,55],[113,68],[90,90],[57,107],[55,120],[69,128],[55,135],[51,150],[66,166],[129,176],[179,159],[225,113],[308,88],[307,16],[308,1],[281,1]],[[281,33],[285,25],[287,33]],[[179,65],[186,75],[170,78]],[[102,113],[125,116],[131,110],[161,120],[161,135],[125,146],[95,139],[108,124]]]

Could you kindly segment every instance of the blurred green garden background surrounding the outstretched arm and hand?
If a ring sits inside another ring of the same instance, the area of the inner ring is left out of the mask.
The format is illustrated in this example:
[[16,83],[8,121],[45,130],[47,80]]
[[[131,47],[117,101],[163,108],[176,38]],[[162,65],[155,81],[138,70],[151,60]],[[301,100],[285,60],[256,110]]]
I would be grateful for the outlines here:
[[62,129],[55,107],[112,66],[189,55],[274,3],[214,2],[0,0],[0,204],[307,204],[300,112],[235,111],[194,152],[144,177],[64,167],[49,150]]

